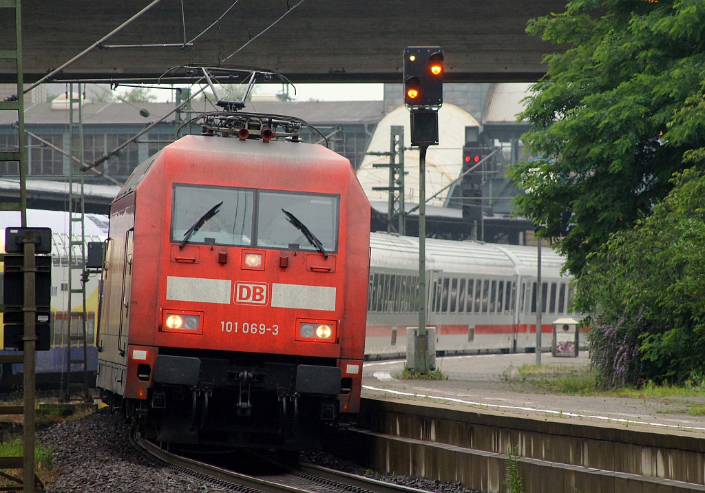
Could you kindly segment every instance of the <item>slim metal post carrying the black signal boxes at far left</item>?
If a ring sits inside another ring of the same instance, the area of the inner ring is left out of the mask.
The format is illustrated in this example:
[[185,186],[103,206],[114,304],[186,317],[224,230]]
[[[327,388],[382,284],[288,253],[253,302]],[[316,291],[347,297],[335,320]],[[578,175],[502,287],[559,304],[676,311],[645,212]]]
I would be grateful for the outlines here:
[[25,259],[25,334],[23,337],[24,360],[24,458],[22,491],[35,493],[35,232],[25,231],[23,238]]

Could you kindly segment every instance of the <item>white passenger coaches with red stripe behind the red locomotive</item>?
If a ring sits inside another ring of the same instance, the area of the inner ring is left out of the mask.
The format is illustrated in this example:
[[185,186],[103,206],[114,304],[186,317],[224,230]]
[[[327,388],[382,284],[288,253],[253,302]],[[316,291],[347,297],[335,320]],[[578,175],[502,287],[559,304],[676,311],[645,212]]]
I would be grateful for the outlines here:
[[[406,353],[406,329],[418,327],[419,241],[370,237],[367,340],[369,359]],[[563,257],[541,250],[541,346],[551,346],[553,320],[570,315],[571,277]],[[436,352],[531,352],[536,348],[537,248],[427,239],[427,325],[436,327]]]

